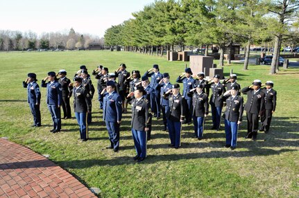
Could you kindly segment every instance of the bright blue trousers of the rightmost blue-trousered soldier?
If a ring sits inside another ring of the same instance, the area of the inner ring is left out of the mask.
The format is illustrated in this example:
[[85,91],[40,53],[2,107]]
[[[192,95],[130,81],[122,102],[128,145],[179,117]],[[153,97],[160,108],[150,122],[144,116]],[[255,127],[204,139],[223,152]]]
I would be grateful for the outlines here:
[[238,123],[230,122],[230,120],[224,119],[226,145],[231,147],[237,146],[237,134],[238,134]]

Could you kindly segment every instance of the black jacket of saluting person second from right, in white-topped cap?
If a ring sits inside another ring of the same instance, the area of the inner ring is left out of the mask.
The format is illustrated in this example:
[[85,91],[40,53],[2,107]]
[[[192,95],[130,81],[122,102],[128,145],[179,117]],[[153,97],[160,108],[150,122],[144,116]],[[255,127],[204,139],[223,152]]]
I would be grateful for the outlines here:
[[261,116],[265,109],[264,92],[259,89],[259,91],[255,93],[255,91],[249,87],[244,87],[241,92],[247,95],[247,102],[244,107],[245,111],[251,114],[259,114],[259,116]]

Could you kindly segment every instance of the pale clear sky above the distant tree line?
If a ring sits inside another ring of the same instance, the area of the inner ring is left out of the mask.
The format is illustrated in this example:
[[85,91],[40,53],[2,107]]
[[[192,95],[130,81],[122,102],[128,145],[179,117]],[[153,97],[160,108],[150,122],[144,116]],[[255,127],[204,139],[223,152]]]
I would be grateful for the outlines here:
[[155,0],[0,0],[0,30],[31,30],[103,37],[105,30],[121,24],[132,13]]

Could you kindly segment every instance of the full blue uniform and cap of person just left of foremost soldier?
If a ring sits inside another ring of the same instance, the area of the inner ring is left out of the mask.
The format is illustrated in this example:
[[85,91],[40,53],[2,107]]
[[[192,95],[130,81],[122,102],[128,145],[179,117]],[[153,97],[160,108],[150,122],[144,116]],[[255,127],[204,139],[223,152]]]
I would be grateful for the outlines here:
[[[114,86],[113,81],[108,81],[107,86]],[[115,88],[114,88],[115,89]],[[117,152],[119,150],[119,126],[121,121],[121,96],[117,91],[105,92],[103,95],[103,120],[108,129],[110,148]]]

